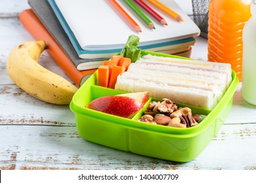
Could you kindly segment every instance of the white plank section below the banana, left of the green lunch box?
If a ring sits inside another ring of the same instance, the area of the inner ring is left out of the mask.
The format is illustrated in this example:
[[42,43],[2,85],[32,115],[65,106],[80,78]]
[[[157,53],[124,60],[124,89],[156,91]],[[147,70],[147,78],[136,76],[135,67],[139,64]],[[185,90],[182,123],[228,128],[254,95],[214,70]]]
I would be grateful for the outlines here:
[[75,125],[69,105],[45,103],[14,85],[0,91],[0,124]]

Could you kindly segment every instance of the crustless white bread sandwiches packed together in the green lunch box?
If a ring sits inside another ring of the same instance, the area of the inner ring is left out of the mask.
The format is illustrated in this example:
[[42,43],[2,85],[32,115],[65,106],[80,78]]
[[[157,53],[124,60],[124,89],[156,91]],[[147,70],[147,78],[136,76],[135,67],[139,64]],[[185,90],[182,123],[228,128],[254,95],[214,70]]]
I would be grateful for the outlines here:
[[148,91],[158,99],[212,109],[226,92],[231,73],[228,63],[147,55],[118,76],[115,89]]

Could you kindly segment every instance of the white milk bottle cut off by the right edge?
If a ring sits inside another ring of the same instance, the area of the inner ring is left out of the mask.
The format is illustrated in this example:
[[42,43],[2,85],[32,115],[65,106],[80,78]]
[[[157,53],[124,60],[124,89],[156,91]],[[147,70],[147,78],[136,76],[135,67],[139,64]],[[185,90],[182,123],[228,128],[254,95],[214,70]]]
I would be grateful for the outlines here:
[[251,3],[251,18],[243,30],[242,97],[256,105],[256,0]]

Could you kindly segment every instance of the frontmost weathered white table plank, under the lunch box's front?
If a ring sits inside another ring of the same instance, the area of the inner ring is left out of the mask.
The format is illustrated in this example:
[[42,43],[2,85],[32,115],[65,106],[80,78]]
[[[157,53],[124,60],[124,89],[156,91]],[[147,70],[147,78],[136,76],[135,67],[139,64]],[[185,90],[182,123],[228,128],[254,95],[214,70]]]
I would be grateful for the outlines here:
[[255,129],[223,125],[198,158],[177,163],[84,141],[75,127],[0,125],[0,169],[256,169]]

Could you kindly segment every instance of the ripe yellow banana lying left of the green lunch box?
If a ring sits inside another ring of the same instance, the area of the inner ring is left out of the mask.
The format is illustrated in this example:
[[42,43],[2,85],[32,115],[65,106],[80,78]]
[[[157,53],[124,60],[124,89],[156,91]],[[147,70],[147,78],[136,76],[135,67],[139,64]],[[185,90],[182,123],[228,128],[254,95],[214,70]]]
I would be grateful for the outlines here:
[[27,41],[15,46],[7,59],[7,73],[17,86],[33,97],[56,105],[69,104],[77,88],[39,65],[45,49],[45,41]]

